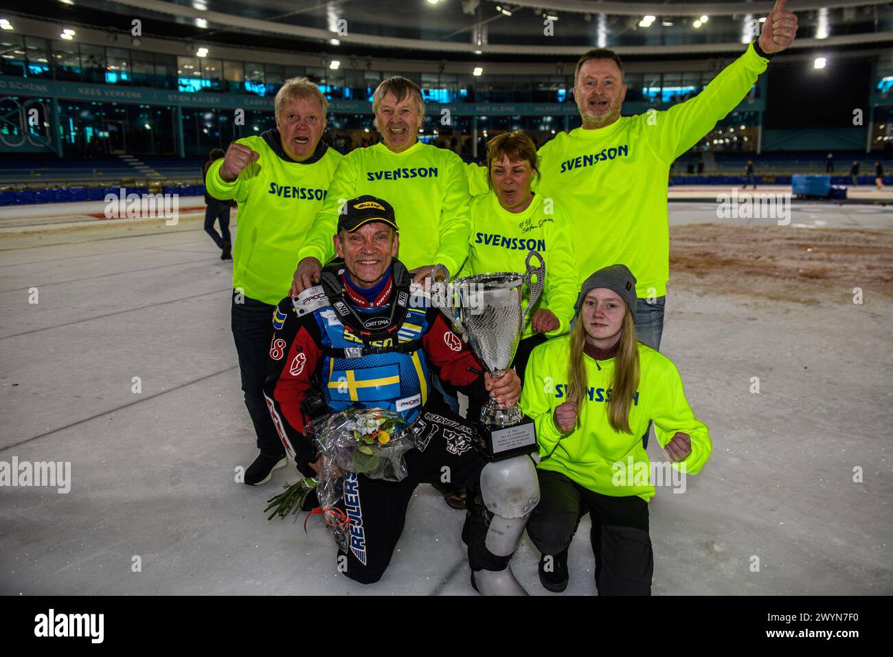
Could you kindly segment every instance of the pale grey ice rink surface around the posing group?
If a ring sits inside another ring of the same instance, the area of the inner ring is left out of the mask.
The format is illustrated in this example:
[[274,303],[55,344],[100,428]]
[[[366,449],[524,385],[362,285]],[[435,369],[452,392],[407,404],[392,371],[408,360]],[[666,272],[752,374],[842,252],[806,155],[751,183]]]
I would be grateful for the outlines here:
[[[712,203],[670,213],[717,221]],[[893,227],[880,206],[793,213],[792,226]],[[293,466],[236,483],[256,450],[231,264],[196,218],[0,238],[0,460],[71,461],[70,493],[0,488],[0,594],[473,594],[463,512],[428,485],[387,574],[363,586],[338,574],[318,518],[306,534],[303,514],[265,518]],[[660,488],[650,504],[655,594],[893,594],[893,304],[849,296],[791,304],[671,274],[662,350],[714,453],[685,493]],[[569,594],[595,591],[588,526]],[[537,560],[525,536],[513,570],[547,594]]]

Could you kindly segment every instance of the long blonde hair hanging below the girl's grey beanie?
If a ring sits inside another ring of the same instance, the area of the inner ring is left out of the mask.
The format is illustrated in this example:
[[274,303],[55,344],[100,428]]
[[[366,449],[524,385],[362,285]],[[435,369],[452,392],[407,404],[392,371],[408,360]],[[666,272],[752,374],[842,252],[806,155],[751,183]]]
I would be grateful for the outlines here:
[[[638,342],[636,341],[636,324],[630,316],[630,309],[625,307],[623,324],[620,329],[620,349],[614,358],[614,371],[611,378],[611,400],[608,404],[608,423],[614,431],[632,434],[630,430],[630,405],[633,395],[638,389],[641,370],[638,365]],[[577,407],[577,427],[580,428],[583,400],[587,397],[588,382],[586,377],[585,355],[583,345],[586,344],[586,329],[583,319],[577,316],[577,323],[571,331],[571,358],[567,365],[569,384],[568,401]]]

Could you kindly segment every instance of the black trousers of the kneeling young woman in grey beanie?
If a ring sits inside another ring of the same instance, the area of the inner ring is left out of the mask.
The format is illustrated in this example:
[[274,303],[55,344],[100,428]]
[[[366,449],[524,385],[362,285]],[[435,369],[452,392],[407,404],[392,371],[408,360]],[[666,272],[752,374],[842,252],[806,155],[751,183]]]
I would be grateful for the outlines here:
[[540,498],[527,522],[527,535],[538,551],[552,556],[565,552],[588,512],[598,594],[650,595],[655,560],[647,501],[638,495],[595,493],[551,470],[538,468],[537,475]]

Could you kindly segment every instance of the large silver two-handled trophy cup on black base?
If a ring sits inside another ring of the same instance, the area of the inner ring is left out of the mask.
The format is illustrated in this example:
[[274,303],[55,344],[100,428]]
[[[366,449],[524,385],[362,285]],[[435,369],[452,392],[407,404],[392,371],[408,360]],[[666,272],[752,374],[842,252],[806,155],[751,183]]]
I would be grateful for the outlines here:
[[[536,258],[537,266],[530,261]],[[494,378],[512,364],[528,317],[543,291],[546,265],[537,251],[525,261],[527,272],[475,274],[449,283],[447,268],[437,265],[431,272],[431,303],[447,316],[455,333],[472,346],[475,356]],[[536,279],[534,281],[534,278]],[[522,310],[523,286],[530,299]],[[485,435],[476,445],[491,459],[505,459],[536,449],[536,434],[530,418],[517,404],[499,404],[490,399],[480,409]]]

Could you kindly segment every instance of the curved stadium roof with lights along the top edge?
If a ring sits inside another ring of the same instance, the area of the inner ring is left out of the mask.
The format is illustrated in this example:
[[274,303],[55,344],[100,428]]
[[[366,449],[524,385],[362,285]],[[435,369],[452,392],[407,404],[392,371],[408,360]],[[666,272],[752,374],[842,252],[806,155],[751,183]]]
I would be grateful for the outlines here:
[[[32,0],[28,14],[148,36],[356,56],[473,60],[579,55],[710,55],[753,40],[772,2],[584,0]],[[893,4],[792,0],[794,48],[893,42]],[[704,20],[706,19],[706,20]]]

